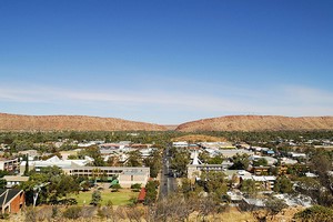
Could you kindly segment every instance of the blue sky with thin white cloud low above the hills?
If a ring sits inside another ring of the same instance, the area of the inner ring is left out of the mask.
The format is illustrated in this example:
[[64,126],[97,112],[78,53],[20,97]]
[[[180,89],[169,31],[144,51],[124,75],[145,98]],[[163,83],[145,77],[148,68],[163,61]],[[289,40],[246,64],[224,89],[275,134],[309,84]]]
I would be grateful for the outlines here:
[[2,0],[0,112],[333,114],[332,0]]

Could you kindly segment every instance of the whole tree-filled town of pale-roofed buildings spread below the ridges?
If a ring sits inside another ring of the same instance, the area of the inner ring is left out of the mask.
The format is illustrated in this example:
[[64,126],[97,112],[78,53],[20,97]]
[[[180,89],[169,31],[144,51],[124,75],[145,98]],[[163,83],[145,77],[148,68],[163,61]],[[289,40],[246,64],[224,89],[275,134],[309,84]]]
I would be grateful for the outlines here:
[[3,219],[204,221],[233,209],[261,220],[333,202],[332,131],[2,132],[0,142]]

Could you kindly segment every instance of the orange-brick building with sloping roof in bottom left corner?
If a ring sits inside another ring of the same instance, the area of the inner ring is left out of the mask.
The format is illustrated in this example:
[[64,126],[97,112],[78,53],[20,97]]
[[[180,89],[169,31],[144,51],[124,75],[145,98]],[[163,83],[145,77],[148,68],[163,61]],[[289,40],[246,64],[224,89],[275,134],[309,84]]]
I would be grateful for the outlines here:
[[26,196],[22,190],[0,189],[1,213],[18,213],[24,205]]

